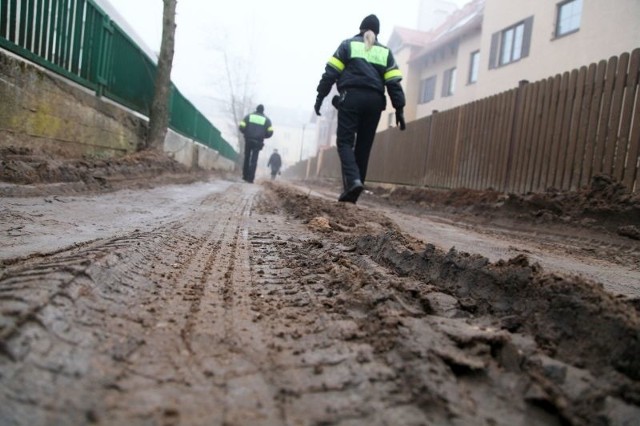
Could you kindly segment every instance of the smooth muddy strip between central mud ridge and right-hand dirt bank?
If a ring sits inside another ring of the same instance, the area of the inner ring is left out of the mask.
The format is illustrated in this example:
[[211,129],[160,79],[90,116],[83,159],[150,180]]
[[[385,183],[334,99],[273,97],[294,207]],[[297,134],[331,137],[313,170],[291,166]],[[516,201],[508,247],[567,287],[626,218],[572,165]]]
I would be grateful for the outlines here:
[[[297,183],[309,195],[335,199],[335,188]],[[332,189],[334,191],[332,192]],[[403,204],[389,205],[370,191],[360,203],[390,218],[402,230],[441,250],[455,249],[491,262],[524,255],[547,272],[579,275],[616,295],[640,297],[640,241],[566,223],[492,220],[481,215],[447,214]]]

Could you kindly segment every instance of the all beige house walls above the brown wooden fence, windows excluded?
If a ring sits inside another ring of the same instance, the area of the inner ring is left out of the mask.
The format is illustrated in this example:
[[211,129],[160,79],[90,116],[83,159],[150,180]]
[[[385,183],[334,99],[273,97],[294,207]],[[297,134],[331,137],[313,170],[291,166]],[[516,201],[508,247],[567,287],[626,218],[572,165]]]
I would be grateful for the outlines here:
[[[433,74],[438,76],[436,98],[417,105],[415,118],[430,115],[434,109],[443,111],[513,89],[520,80],[534,82],[640,47],[640,0],[583,0],[579,31],[555,38],[558,3],[560,0],[486,0],[482,29],[472,30],[460,39],[455,57],[445,57],[417,70],[414,65],[409,71],[405,61],[403,72],[419,75],[408,80],[410,93],[418,93],[421,79]],[[534,16],[529,56],[490,70],[492,34],[529,16]],[[468,84],[470,53],[477,49],[480,50],[478,82]],[[454,62],[458,68],[456,93],[442,98],[443,72],[454,66]],[[412,98],[412,102],[417,103],[417,98]]]

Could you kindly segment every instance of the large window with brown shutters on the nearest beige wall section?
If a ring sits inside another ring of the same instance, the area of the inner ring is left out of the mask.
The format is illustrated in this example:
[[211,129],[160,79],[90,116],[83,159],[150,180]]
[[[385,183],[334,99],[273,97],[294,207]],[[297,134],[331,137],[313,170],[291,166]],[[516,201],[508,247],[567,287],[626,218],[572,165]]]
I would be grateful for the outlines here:
[[497,68],[517,62],[529,56],[533,16],[518,22],[491,36],[489,68]]

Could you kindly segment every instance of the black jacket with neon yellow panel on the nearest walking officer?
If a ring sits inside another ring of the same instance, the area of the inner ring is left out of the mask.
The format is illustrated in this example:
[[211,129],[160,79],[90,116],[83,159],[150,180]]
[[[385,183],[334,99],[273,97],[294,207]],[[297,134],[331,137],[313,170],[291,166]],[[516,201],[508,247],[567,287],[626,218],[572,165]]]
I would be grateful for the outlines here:
[[341,93],[349,88],[368,88],[384,95],[386,86],[393,107],[402,109],[405,98],[401,80],[402,73],[391,50],[376,40],[366,52],[364,38],[356,35],[340,43],[327,62],[318,84],[318,98],[324,99],[336,82]]

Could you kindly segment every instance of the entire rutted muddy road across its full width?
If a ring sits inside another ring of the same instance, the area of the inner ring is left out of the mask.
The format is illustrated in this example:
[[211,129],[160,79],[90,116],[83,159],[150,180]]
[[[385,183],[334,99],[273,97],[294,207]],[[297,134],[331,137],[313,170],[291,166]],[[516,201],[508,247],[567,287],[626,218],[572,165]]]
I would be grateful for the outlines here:
[[638,424],[636,240],[334,199],[0,198],[0,424]]

